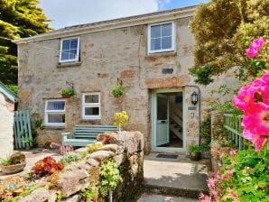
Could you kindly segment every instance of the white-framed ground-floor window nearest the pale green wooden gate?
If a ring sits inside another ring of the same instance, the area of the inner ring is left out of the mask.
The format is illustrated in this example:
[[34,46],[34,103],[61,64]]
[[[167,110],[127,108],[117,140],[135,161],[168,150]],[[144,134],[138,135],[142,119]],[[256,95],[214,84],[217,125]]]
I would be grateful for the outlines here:
[[64,126],[65,125],[65,101],[47,100],[45,103],[45,125]]

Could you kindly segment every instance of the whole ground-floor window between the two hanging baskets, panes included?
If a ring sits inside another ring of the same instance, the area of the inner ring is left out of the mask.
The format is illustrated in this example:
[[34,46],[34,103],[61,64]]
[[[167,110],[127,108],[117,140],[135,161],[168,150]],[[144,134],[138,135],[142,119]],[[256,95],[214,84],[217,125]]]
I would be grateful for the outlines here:
[[100,119],[101,101],[100,93],[87,93],[82,95],[82,119]]

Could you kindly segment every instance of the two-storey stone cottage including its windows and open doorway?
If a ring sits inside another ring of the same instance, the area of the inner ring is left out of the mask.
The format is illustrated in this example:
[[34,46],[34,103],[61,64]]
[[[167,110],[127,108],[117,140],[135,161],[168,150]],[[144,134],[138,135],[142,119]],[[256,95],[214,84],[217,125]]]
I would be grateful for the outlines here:
[[[19,108],[42,120],[37,141],[61,142],[75,124],[113,124],[125,110],[125,130],[144,133],[144,152],[186,152],[198,143],[212,97],[232,75],[199,87],[189,74],[195,6],[80,24],[14,41],[19,52]],[[115,98],[111,90],[125,88]],[[62,98],[73,87],[76,96]]]

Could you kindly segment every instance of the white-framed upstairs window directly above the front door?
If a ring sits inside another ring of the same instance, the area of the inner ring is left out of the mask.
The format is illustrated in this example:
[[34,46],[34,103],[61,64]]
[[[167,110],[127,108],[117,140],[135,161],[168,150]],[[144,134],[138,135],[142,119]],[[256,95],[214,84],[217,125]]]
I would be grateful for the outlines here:
[[174,23],[162,23],[148,27],[148,52],[175,50]]

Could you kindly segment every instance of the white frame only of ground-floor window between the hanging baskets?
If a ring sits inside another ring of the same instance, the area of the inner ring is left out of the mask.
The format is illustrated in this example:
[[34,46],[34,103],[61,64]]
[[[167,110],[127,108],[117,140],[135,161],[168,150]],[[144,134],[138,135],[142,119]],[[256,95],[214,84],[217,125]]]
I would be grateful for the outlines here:
[[[98,102],[97,103],[85,103],[85,96],[97,95]],[[85,107],[98,107],[99,115],[85,115]],[[92,92],[92,93],[84,93],[82,94],[82,119],[83,120],[97,120],[101,119],[101,93]]]

